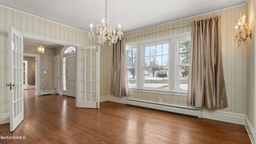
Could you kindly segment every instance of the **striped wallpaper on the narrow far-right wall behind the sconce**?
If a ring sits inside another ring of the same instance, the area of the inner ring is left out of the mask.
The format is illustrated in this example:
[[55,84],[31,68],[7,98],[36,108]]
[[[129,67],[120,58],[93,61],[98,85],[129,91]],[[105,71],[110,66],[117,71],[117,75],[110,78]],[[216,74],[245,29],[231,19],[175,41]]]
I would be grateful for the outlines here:
[[255,129],[255,0],[247,1],[246,14],[248,27],[252,29],[252,38],[247,38],[246,45],[246,116]]

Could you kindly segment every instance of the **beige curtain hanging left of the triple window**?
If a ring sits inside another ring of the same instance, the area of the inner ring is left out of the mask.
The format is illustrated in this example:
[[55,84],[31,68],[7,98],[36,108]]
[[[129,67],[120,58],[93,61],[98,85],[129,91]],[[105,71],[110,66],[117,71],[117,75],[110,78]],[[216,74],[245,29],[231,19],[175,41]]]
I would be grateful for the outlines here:
[[115,96],[130,95],[126,69],[125,39],[122,38],[114,44],[110,94]]

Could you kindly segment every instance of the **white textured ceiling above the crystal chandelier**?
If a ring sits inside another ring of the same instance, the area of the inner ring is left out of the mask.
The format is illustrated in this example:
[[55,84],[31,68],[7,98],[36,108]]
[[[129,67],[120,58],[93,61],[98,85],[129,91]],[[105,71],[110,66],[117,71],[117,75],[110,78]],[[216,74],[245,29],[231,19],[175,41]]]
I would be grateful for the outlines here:
[[[247,0],[108,0],[110,24],[122,32],[245,4]],[[105,17],[105,0],[0,0],[0,4],[36,16],[90,30]]]

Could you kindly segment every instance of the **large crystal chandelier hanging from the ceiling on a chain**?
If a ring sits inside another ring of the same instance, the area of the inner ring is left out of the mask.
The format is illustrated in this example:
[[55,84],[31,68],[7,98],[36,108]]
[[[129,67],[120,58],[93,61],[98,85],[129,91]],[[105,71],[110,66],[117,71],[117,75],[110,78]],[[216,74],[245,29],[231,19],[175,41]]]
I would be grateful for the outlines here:
[[[97,34],[94,33],[94,31],[92,31],[92,23],[90,24],[90,28],[91,30],[88,32],[88,36],[89,38],[92,40],[95,40],[95,38],[98,38],[98,43],[104,45],[104,42],[108,40],[110,40],[109,45],[111,45],[111,43],[115,44],[118,40],[118,38],[121,40],[122,36],[123,36],[123,32],[121,32],[121,26],[119,24],[118,28],[119,31],[116,33],[115,31],[115,25],[111,24],[110,26],[108,25],[108,18],[107,18],[107,0],[106,0],[106,12],[105,12],[105,18],[102,20],[102,24],[97,24]],[[98,35],[98,32],[100,32],[100,34]]]

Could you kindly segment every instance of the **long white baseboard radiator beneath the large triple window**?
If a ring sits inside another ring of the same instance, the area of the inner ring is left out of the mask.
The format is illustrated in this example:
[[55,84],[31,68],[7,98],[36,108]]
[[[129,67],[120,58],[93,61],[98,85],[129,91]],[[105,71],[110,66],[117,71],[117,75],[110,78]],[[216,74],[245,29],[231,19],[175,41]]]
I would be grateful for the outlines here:
[[179,106],[166,105],[158,102],[146,102],[146,101],[131,100],[131,99],[126,99],[125,104],[140,106],[144,108],[152,108],[156,110],[163,110],[167,112],[174,112],[178,114],[186,114],[186,115],[197,116],[198,118],[202,118],[202,111],[197,109],[192,109],[192,108],[184,108]]

